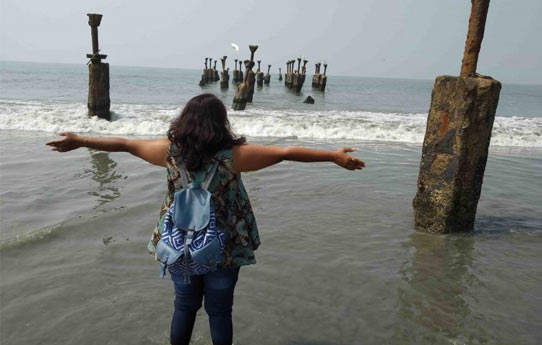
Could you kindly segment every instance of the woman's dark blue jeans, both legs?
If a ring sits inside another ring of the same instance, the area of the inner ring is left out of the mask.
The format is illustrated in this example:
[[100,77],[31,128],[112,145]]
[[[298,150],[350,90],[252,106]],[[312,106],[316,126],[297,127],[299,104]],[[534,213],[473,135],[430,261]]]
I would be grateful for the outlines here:
[[201,276],[191,276],[190,283],[184,276],[170,274],[175,286],[175,312],[171,320],[171,344],[188,345],[196,321],[196,312],[205,297],[205,311],[209,315],[213,345],[231,345],[233,326],[231,320],[233,290],[239,268],[218,268]]

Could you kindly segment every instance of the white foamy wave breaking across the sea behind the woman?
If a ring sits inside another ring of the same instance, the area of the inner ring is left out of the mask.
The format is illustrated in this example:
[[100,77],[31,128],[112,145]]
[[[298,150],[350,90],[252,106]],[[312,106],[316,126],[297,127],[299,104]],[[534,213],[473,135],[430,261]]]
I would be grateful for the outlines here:
[[[0,101],[0,129],[97,133],[107,135],[165,135],[179,113],[172,105],[115,104],[113,121],[89,118],[85,104]],[[230,111],[235,132],[250,137],[370,140],[422,143],[427,114],[339,110]],[[496,117],[491,145],[542,147],[542,118]]]

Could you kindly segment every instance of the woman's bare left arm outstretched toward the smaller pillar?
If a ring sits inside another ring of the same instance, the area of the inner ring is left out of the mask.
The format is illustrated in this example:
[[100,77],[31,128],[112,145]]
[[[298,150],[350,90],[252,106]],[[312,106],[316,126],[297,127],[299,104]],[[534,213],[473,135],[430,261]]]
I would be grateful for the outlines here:
[[71,132],[59,134],[64,138],[50,141],[45,145],[52,146],[53,151],[68,152],[80,147],[88,147],[108,152],[129,152],[147,162],[166,166],[169,140],[163,139],[125,139],[113,137],[84,137]]

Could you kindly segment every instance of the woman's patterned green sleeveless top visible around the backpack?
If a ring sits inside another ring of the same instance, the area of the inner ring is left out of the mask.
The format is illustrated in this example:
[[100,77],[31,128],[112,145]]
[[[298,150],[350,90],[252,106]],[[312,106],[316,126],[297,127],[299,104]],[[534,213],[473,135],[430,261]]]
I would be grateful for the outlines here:
[[[156,252],[156,244],[160,240],[161,229],[163,229],[164,217],[173,202],[174,194],[182,188],[181,175],[179,171],[180,157],[176,154],[177,148],[170,146],[167,154],[167,182],[168,191],[162,207],[160,218],[154,228],[154,232],[147,249],[151,254]],[[218,161],[218,169],[209,186],[212,193],[211,203],[216,212],[217,224],[226,231],[226,246],[224,249],[223,267],[237,267],[256,263],[254,251],[260,245],[260,236],[256,218],[252,212],[252,206],[248,194],[241,181],[241,176],[233,169],[232,151],[219,151],[215,158]],[[209,163],[204,169],[198,172],[189,172],[191,180],[202,181],[206,172],[209,171],[214,162]],[[233,204],[232,204],[233,203]],[[231,210],[231,215],[229,215]],[[226,225],[228,216],[229,224]]]

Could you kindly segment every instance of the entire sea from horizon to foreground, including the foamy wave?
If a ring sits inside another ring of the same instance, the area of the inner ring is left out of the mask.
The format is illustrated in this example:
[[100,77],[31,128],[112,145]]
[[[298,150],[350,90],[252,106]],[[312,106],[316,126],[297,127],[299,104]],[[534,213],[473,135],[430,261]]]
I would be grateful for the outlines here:
[[[65,130],[161,137],[201,92],[229,109],[235,87],[200,88],[200,73],[112,65],[107,122],[86,115],[84,64],[0,63],[2,343],[167,343],[173,288],[145,249],[164,169],[44,143]],[[272,73],[228,111],[249,142],[357,147],[367,163],[243,175],[262,246],[240,273],[236,344],[542,341],[542,86],[503,84],[475,229],[439,236],[416,232],[411,208],[432,84],[331,75],[325,92],[307,78],[296,95]],[[208,334],[202,310],[194,337]]]

